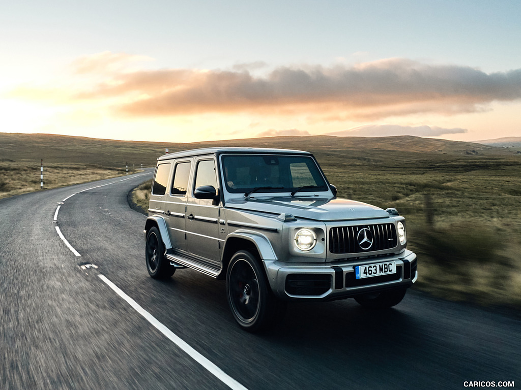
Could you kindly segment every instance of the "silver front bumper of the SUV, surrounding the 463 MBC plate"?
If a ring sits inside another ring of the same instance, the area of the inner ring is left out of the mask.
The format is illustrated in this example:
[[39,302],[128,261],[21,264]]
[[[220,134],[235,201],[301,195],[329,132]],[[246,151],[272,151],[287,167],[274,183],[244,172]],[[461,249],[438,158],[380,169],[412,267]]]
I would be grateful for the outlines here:
[[[355,266],[393,261],[395,274],[356,279]],[[329,301],[376,291],[408,288],[417,280],[417,258],[411,251],[396,256],[339,263],[295,264],[264,260],[272,291],[287,300]]]

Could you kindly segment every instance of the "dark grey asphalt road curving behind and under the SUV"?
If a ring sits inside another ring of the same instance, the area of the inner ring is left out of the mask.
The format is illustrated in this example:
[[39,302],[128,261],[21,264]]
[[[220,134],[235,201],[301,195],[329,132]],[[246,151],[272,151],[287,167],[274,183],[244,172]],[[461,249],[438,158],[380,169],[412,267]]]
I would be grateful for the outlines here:
[[521,320],[414,290],[381,313],[353,300],[295,303],[270,334],[240,330],[224,282],[148,276],[145,216],[126,199],[148,177],[0,200],[2,389],[521,387]]

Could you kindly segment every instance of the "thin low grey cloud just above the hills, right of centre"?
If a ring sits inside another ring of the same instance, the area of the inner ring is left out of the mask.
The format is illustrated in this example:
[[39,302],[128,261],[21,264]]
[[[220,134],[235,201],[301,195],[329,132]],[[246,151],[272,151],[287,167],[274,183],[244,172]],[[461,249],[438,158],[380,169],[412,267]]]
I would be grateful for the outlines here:
[[338,137],[389,137],[396,135],[414,135],[418,137],[439,137],[445,134],[467,133],[465,128],[443,128],[437,126],[399,126],[365,125],[341,132],[327,133]]

